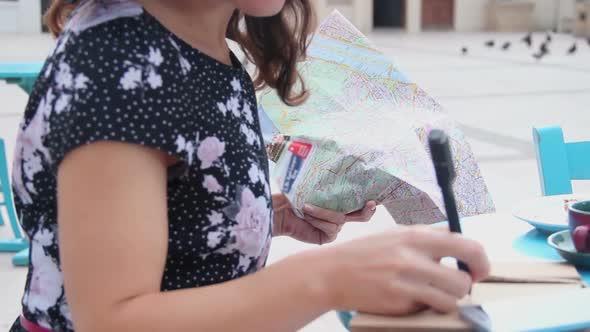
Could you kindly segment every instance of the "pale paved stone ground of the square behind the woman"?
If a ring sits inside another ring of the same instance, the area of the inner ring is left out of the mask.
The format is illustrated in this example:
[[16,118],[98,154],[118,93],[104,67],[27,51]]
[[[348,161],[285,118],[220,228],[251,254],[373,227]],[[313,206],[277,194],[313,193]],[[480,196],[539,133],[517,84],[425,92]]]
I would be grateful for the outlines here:
[[[590,139],[590,46],[566,56],[573,43],[557,36],[551,56],[535,61],[532,50],[518,43],[520,35],[424,33],[407,35],[378,31],[371,39],[393,57],[410,77],[442,103],[461,125],[487,179],[499,210],[540,194],[531,143],[533,125],[561,125],[568,140]],[[487,49],[484,41],[512,41],[512,48]],[[538,36],[542,38],[542,36]],[[52,41],[48,36],[0,34],[0,61],[42,60]],[[460,49],[469,48],[462,56]],[[12,151],[26,95],[0,83],[0,136]],[[575,183],[577,192],[590,192],[587,183]],[[369,224],[347,226],[339,241],[392,227],[384,211]],[[500,230],[499,230],[500,231]],[[0,236],[8,236],[0,227]],[[312,248],[279,238],[271,262]],[[305,271],[302,271],[305,273]],[[13,268],[10,256],[0,254],[0,330],[19,313],[26,270]],[[328,313],[303,329],[305,332],[343,331],[335,314]]]

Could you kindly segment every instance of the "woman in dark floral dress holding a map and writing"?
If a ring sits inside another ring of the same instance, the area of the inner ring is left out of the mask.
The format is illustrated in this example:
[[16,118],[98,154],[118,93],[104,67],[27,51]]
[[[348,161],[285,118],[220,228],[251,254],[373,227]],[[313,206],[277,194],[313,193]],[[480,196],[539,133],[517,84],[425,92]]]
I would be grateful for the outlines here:
[[[375,209],[308,206],[300,220],[270,193],[255,88],[304,101],[295,65],[311,16],[307,0],[53,3],[57,46],[16,149],[31,263],[11,331],[289,331],[333,309],[456,308],[487,258],[427,227],[263,269],[272,236],[327,243]],[[254,83],[226,36],[257,65]]]

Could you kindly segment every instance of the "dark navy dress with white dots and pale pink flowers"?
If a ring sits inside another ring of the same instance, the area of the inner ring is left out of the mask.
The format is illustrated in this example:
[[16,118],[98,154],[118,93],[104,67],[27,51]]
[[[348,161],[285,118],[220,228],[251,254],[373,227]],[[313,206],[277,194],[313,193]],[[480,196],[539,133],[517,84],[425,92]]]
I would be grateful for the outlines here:
[[[31,94],[15,151],[15,204],[31,239],[27,321],[73,331],[57,238],[57,169],[68,152],[97,141],[179,160],[168,170],[162,291],[264,266],[272,234],[268,164],[252,81],[233,54],[232,61],[192,48],[133,1],[78,5]],[[12,331],[19,330],[17,321]]]

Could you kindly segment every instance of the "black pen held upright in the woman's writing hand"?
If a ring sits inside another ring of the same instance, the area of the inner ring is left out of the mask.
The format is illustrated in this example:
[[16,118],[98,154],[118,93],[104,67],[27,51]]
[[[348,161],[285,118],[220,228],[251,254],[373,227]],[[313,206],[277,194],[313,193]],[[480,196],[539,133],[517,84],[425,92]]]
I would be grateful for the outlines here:
[[[449,137],[444,131],[434,129],[428,135],[428,144],[434,169],[436,170],[436,179],[445,203],[449,229],[451,232],[461,233],[461,223],[459,222],[459,213],[457,212],[455,194],[453,193],[453,182],[456,174]],[[457,260],[457,266],[460,270],[469,273],[469,267],[464,262]]]

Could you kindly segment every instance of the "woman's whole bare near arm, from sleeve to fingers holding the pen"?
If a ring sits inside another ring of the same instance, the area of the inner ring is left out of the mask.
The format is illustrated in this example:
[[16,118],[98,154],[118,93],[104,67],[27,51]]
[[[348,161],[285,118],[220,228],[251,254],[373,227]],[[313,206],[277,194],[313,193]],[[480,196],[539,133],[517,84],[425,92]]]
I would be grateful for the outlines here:
[[[101,142],[58,174],[60,259],[74,327],[94,331],[294,331],[330,309],[456,309],[489,265],[477,243],[399,227],[291,256],[253,275],[160,292],[167,253],[163,153]],[[471,275],[439,264],[467,263]]]

